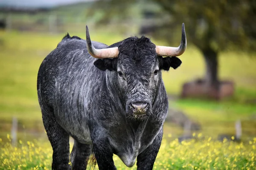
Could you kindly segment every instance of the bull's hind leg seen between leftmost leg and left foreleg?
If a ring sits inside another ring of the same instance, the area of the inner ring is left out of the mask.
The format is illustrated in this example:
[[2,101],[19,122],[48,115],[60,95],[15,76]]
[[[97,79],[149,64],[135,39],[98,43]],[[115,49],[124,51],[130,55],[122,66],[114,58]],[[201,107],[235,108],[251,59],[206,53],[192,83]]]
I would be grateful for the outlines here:
[[88,159],[91,155],[91,144],[81,144],[74,140],[71,152],[71,162],[73,170],[86,170]]

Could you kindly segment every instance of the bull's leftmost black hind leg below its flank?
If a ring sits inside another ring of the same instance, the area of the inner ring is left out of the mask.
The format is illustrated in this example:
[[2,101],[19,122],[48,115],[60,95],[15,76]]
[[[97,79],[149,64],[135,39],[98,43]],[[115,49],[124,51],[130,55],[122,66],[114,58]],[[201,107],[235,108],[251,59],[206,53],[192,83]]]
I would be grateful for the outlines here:
[[71,170],[69,134],[57,123],[53,113],[42,110],[44,128],[52,145],[52,169]]

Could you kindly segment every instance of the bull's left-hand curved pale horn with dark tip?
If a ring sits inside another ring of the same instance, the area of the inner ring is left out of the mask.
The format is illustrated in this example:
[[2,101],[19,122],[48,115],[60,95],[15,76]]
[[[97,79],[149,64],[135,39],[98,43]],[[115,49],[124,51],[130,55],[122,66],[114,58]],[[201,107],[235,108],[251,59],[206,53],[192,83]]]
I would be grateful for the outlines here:
[[116,58],[118,56],[118,47],[108,49],[95,49],[89,35],[88,27],[86,26],[86,45],[90,55],[94,58]]

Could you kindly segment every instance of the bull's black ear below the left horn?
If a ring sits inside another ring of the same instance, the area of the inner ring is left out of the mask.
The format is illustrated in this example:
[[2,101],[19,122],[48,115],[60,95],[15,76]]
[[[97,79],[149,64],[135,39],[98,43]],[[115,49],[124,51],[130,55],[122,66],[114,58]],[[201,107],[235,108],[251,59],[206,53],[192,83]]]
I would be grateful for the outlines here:
[[109,59],[109,58],[104,58],[104,59],[98,59],[96,61],[94,61],[94,66],[96,66],[98,69],[105,71],[105,70],[109,70],[109,71],[113,71],[116,70],[116,64],[117,61],[116,59]]

